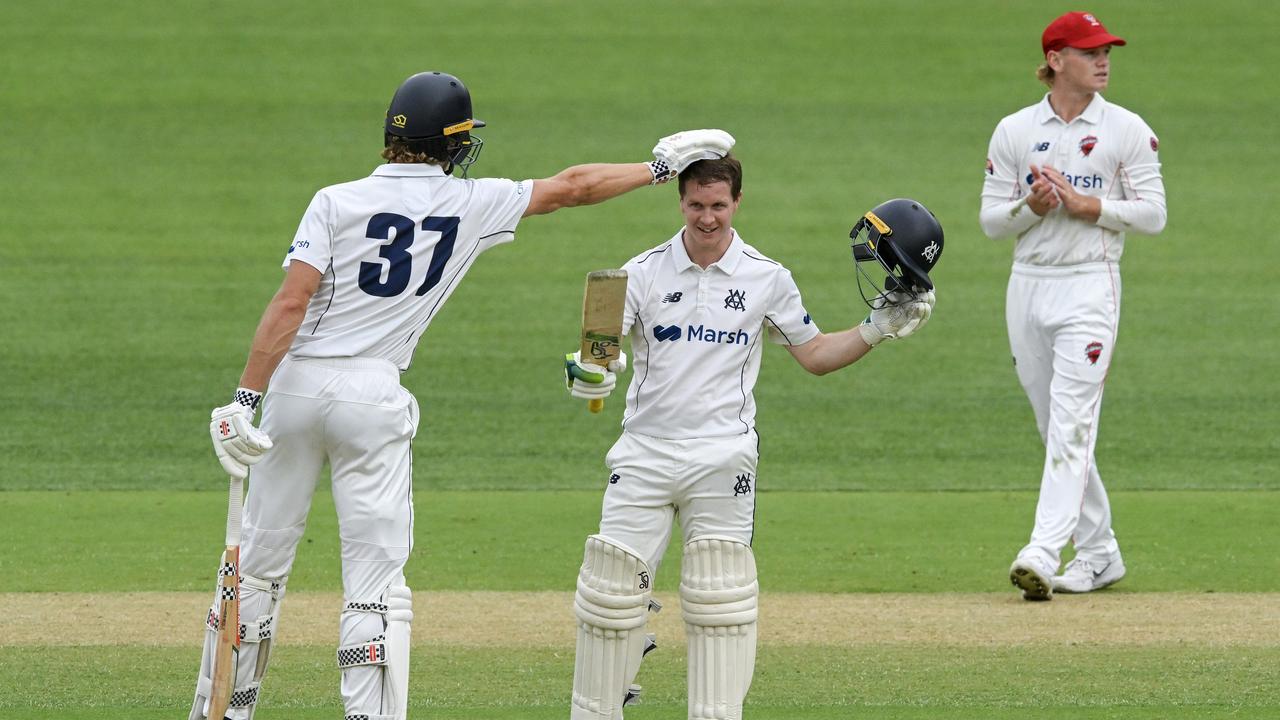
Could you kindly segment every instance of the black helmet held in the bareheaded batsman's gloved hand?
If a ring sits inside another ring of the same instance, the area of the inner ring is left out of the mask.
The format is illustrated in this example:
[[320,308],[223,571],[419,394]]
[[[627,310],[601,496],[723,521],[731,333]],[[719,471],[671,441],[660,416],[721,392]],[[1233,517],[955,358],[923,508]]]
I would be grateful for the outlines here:
[[[933,290],[929,270],[942,256],[942,224],[924,205],[906,197],[881,202],[858,219],[849,237],[854,241],[858,292],[867,305],[874,307],[881,297],[882,302],[906,302]],[[872,261],[878,266],[868,270]],[[881,270],[883,284],[877,282]],[[869,296],[864,283],[874,291]],[[899,295],[891,299],[891,292]]]

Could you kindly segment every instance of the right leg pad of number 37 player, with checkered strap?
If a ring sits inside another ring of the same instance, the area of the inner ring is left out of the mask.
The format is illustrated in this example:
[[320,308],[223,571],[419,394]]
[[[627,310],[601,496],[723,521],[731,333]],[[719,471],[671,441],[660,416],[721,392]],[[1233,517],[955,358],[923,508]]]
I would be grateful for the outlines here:
[[[338,648],[348,720],[404,720],[408,712],[408,644],[413,594],[403,584],[378,601],[347,601]],[[367,638],[351,642],[355,638]]]

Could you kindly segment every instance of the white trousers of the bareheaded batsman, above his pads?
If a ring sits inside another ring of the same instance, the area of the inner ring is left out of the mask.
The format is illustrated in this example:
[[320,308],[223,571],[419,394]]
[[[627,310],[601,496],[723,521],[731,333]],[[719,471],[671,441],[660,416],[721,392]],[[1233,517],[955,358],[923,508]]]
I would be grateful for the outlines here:
[[622,433],[604,459],[600,534],[639,552],[654,575],[677,514],[686,543],[724,536],[750,546],[759,442],[755,430],[694,439]]

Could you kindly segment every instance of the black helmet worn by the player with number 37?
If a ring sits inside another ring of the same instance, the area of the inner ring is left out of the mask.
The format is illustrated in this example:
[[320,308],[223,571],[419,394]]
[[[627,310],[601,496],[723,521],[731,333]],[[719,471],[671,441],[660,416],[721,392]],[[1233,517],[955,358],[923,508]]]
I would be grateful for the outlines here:
[[462,177],[466,177],[484,145],[471,129],[483,127],[484,120],[471,117],[471,92],[461,79],[448,73],[417,73],[402,82],[392,96],[383,143],[401,140],[413,152],[447,160],[445,173],[462,168]]

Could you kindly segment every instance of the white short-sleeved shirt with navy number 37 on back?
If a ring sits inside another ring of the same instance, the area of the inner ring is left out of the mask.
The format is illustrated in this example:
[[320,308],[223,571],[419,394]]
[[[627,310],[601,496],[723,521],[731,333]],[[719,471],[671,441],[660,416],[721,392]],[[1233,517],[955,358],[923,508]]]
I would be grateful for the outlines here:
[[316,192],[284,268],[301,260],[324,277],[289,355],[381,357],[408,369],[476,256],[515,238],[532,187],[389,163]]

